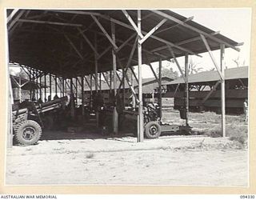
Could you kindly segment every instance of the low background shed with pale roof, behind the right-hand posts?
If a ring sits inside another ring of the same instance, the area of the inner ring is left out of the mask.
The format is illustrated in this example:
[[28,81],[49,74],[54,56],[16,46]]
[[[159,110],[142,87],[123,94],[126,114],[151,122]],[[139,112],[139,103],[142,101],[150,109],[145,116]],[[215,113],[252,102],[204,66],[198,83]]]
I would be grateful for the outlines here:
[[[188,77],[191,110],[215,110],[221,108],[221,87],[216,70],[190,74]],[[248,98],[248,66],[225,70],[226,110],[230,113],[242,113],[243,103]],[[162,83],[166,92],[163,97],[175,98],[176,108],[185,106],[185,82],[178,78],[172,82]]]

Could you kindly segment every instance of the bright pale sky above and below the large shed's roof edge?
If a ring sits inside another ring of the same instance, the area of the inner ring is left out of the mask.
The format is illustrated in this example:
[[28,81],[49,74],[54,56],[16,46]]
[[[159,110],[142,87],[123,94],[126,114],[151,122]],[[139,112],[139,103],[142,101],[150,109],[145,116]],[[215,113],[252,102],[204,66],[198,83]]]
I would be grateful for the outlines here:
[[[194,16],[194,22],[206,26],[214,31],[220,31],[220,34],[234,40],[235,42],[244,42],[243,46],[239,46],[240,52],[227,48],[225,50],[225,65],[227,68],[236,67],[234,59],[238,59],[240,66],[250,66],[250,33],[251,33],[251,10],[249,8],[239,9],[172,9],[172,11],[183,15],[186,18]],[[220,51],[213,51],[215,60],[219,63]],[[198,63],[198,67],[202,70],[210,70],[214,68],[214,64],[210,59],[208,53],[201,54],[202,58],[198,56],[191,56],[193,62]],[[178,58],[181,66],[184,66],[185,58]],[[163,66],[166,62],[163,62]],[[154,63],[156,70],[158,63]],[[178,71],[175,64],[171,64],[173,70]],[[154,77],[149,70],[150,67],[142,67],[142,77]]]

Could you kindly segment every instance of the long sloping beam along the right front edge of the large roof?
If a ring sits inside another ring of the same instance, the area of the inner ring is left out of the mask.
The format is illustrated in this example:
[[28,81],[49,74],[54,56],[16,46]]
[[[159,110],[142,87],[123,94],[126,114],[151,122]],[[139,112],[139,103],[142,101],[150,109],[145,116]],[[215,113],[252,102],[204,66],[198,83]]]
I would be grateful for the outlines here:
[[212,39],[214,42],[218,42],[219,44],[225,44],[226,46],[229,46],[230,48],[232,48],[234,50],[240,51],[239,48],[237,48],[233,45],[230,45],[230,43],[224,42],[219,38],[215,38],[213,35],[207,34],[206,32],[204,32],[202,30],[199,30],[199,29],[195,28],[194,26],[190,26],[189,24],[186,24],[185,22],[182,22],[178,18],[174,18],[174,17],[170,16],[169,14],[165,14],[162,11],[159,11],[159,10],[151,10],[151,11],[160,15],[160,16],[162,16],[163,18],[168,18],[173,22],[176,22],[176,23],[178,23],[178,24],[180,24],[180,25],[182,25],[182,26],[184,26],[184,27],[186,27],[190,30],[193,30],[194,32],[197,32],[198,34],[202,34],[203,36],[206,36],[206,37]]

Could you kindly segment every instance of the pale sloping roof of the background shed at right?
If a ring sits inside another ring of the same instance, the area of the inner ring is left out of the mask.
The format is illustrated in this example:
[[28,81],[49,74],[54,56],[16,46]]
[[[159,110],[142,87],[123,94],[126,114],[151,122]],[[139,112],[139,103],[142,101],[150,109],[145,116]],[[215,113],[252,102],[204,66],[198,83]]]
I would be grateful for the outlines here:
[[[248,78],[248,66],[235,67],[225,70],[225,80]],[[197,82],[216,82],[220,80],[218,71],[203,71],[198,74],[190,74],[189,83]],[[183,78],[178,78],[171,82],[163,83],[162,85],[175,85],[185,83]]]

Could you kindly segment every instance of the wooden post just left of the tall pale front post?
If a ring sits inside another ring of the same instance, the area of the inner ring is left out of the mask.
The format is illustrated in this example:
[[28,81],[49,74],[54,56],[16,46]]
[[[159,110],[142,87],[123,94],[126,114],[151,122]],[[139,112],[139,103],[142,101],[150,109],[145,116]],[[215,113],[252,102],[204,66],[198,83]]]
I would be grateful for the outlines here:
[[[115,28],[114,22],[111,22],[111,36],[112,40],[115,44]],[[117,95],[117,58],[114,52],[114,48],[112,49],[112,58],[113,58],[113,73],[114,73],[114,80],[113,80],[113,88],[114,88],[114,98]],[[114,134],[118,134],[118,111],[116,104],[114,105],[114,113],[113,113],[113,127],[114,127]]]

